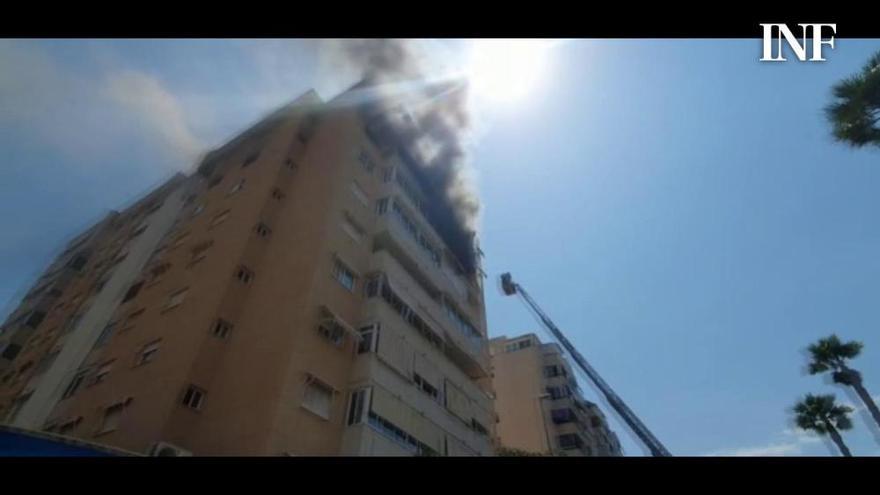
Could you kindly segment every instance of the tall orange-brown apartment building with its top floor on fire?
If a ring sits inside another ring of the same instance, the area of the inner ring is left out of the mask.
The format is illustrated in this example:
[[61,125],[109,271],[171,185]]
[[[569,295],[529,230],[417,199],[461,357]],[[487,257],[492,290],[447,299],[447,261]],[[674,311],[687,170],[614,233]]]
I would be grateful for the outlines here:
[[2,327],[0,418],[163,455],[491,455],[473,234],[385,114],[335,103],[72,241]]

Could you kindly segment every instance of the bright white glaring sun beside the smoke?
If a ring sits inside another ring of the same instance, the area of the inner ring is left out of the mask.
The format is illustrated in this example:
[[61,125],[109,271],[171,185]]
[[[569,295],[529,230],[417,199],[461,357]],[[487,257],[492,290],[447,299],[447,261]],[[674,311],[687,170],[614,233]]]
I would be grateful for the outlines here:
[[482,97],[502,102],[521,99],[540,82],[552,44],[535,39],[473,40],[465,75]]

